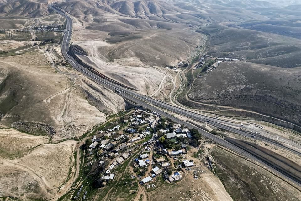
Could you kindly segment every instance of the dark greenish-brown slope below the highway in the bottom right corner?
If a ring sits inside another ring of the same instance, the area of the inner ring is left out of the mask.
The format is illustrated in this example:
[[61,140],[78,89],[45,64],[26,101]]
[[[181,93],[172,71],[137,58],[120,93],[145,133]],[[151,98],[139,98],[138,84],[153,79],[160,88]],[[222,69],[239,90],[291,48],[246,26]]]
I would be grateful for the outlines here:
[[211,150],[217,177],[235,200],[300,200],[300,190],[224,149]]

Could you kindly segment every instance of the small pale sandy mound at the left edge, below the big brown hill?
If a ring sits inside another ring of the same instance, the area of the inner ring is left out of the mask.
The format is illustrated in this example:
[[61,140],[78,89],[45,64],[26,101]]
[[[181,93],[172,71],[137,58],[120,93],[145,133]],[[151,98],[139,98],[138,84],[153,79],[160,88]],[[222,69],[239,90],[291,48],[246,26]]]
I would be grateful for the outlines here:
[[49,142],[48,136],[34,136],[14,129],[0,129],[0,156],[20,155]]

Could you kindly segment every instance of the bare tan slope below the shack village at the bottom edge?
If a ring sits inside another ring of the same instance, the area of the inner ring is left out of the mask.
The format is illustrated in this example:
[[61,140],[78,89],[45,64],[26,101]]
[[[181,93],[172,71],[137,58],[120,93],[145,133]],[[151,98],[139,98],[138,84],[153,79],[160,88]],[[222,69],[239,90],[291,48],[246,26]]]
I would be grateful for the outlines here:
[[[192,149],[186,156],[189,160],[193,160],[196,166],[192,167],[191,171],[184,170],[184,178],[175,185],[160,187],[149,192],[148,200],[232,201],[223,184],[208,170],[203,161],[192,157],[197,151]],[[199,172],[198,179],[193,178],[194,170]]]

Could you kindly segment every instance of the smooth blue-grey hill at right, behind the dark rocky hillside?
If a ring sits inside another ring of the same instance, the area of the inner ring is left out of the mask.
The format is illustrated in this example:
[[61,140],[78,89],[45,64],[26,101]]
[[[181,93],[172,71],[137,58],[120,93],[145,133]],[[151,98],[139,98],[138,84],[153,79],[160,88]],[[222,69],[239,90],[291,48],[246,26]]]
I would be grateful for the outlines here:
[[[210,35],[207,51],[215,56],[283,68],[301,66],[297,56],[301,50],[299,39],[221,25],[210,25],[199,31]],[[229,52],[234,54],[230,56]]]

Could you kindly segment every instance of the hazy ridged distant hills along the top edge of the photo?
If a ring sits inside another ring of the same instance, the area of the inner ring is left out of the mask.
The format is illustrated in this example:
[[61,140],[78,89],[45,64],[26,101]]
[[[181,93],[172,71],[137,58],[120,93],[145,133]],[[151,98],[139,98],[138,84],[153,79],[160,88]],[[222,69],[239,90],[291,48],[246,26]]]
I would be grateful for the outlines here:
[[[50,14],[48,0],[0,0],[0,16],[18,15],[40,17]],[[164,16],[164,21],[181,22],[183,19],[197,19],[219,22],[259,20],[265,16],[288,14],[298,16],[301,5],[298,1],[233,1],[233,0],[71,0],[62,1],[59,7],[73,15],[102,15],[104,13],[122,14],[137,18],[156,19]],[[270,12],[271,11],[271,12]],[[273,12],[272,12],[273,11]]]

